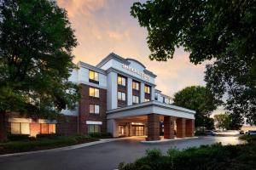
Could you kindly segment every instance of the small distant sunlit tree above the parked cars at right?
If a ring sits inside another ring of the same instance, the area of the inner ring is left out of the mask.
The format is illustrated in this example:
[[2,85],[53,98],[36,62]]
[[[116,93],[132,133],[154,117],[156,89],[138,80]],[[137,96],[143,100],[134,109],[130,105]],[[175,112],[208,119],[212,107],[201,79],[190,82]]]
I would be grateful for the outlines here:
[[214,120],[216,122],[216,127],[222,128],[222,130],[230,129],[231,116],[229,114],[224,113],[224,114],[215,115]]

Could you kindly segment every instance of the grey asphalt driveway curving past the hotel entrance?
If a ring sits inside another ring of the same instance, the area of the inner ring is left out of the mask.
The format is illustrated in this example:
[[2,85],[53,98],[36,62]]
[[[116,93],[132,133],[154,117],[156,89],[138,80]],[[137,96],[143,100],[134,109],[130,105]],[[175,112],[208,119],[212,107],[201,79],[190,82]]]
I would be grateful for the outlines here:
[[142,138],[123,139],[104,144],[91,145],[75,150],[34,153],[24,156],[0,158],[1,170],[113,170],[119,162],[135,161],[145,150],[170,148],[183,149],[201,144],[239,144],[238,137],[200,137],[198,139],[174,140],[160,144],[142,144]]

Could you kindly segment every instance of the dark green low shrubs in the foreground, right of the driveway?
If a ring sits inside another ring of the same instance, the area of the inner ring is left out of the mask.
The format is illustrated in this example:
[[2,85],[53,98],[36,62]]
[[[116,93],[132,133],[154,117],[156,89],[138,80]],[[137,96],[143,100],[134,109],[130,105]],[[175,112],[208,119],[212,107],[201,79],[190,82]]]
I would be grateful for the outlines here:
[[120,163],[119,170],[253,170],[256,169],[256,135],[244,135],[247,144],[201,145],[185,150],[148,150],[132,163]]

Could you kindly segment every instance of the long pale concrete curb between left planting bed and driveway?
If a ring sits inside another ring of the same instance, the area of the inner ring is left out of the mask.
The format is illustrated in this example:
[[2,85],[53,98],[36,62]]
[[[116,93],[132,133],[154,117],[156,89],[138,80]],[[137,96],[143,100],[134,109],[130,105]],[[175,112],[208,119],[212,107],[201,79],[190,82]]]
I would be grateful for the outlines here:
[[100,139],[99,141],[95,141],[95,142],[76,144],[76,145],[65,146],[61,148],[53,148],[49,150],[35,150],[35,151],[26,151],[26,152],[12,153],[12,154],[4,154],[4,155],[0,155],[0,158],[9,157],[9,156],[24,156],[24,155],[30,155],[30,154],[36,154],[36,153],[55,152],[55,151],[61,151],[61,150],[75,150],[75,149],[79,149],[79,148],[83,148],[83,147],[87,147],[95,144],[104,144],[104,143],[113,142],[116,140],[129,139],[129,138],[130,137],[119,138],[119,139]]

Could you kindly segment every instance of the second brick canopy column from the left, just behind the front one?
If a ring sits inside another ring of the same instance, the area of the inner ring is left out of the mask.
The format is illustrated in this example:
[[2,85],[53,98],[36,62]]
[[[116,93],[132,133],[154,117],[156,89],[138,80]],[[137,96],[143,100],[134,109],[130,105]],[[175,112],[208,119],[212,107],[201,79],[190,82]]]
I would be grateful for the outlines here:
[[174,118],[172,116],[164,116],[164,138],[174,139]]

